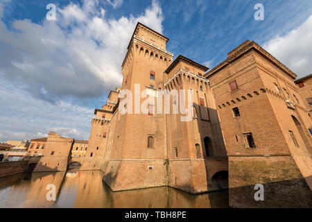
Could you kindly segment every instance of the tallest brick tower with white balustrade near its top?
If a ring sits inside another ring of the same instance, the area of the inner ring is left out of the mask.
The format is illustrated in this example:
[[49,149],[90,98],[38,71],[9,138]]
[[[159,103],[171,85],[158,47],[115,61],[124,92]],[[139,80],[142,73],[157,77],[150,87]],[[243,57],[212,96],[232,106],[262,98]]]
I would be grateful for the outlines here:
[[[148,94],[155,94],[163,87],[163,73],[173,59],[166,51],[166,42],[167,37],[138,23],[128,45],[122,64],[122,89],[132,93],[132,105],[124,106],[132,108],[132,114],[114,112],[103,164],[104,180],[113,191],[166,185],[165,118],[153,113],[155,104],[139,98],[146,89]],[[139,108],[145,104],[149,114],[135,110],[136,103]]]

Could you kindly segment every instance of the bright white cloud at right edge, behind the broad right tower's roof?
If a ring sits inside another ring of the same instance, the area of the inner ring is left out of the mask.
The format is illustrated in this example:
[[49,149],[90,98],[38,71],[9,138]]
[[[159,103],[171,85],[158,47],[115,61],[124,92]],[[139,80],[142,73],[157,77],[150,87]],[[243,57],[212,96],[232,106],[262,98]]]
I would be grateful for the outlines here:
[[277,36],[263,48],[290,68],[298,77],[312,74],[312,15],[285,36]]

